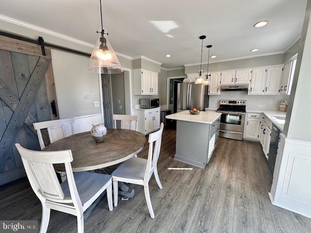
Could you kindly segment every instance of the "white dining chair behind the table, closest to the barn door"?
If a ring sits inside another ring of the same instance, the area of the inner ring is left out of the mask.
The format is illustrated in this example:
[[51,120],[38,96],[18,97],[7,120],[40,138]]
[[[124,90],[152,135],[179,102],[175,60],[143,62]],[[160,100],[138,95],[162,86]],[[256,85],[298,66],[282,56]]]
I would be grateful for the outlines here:
[[[48,130],[50,143],[53,143],[59,139],[74,134],[73,123],[74,123],[73,118],[48,120],[34,123],[34,128],[38,134],[38,140],[41,150],[43,150],[46,146],[44,144],[41,133],[42,129]],[[57,171],[57,173],[60,175],[60,179],[62,182],[66,180],[66,172]]]

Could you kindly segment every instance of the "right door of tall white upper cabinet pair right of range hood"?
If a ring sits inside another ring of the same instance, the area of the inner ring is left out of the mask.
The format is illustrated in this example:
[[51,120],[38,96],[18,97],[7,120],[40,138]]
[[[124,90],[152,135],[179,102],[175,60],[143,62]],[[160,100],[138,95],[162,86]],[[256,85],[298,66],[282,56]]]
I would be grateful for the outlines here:
[[264,94],[276,95],[279,94],[279,86],[282,76],[283,66],[278,67],[268,67],[267,69],[267,79]]

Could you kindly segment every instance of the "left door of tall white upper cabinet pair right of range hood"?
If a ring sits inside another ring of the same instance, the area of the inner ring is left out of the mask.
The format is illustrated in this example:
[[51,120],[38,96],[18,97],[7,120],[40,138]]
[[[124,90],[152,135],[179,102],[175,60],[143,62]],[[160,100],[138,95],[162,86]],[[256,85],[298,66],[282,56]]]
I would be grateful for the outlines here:
[[261,95],[264,92],[264,85],[266,83],[266,68],[256,68],[253,69],[251,84],[248,90],[249,95]]

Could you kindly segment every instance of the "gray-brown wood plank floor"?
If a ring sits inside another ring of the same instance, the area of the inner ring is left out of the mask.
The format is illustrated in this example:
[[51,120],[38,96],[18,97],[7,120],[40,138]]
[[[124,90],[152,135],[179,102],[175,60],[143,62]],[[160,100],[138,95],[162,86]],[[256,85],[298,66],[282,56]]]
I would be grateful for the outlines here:
[[[259,143],[220,138],[205,169],[173,160],[175,131],[165,129],[158,160],[163,189],[152,177],[149,216],[143,187],[113,211],[106,199],[85,221],[86,233],[310,233],[311,219],[271,204],[272,176]],[[195,151],[193,151],[195,153]],[[146,158],[148,144],[138,154]],[[41,219],[41,204],[27,179],[0,187],[0,219]],[[48,232],[77,232],[76,217],[51,212]]]

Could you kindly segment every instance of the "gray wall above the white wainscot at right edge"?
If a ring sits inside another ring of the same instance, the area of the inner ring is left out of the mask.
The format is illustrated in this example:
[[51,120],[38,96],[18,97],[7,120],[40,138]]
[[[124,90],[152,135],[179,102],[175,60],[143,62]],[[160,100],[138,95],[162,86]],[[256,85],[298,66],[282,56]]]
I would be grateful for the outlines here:
[[311,140],[311,1],[307,3],[291,96],[284,125],[288,138]]

